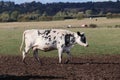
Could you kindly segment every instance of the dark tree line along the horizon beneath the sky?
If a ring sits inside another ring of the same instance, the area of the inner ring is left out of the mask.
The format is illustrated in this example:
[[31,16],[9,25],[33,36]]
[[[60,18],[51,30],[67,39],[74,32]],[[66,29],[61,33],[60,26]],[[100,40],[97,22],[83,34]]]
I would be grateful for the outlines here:
[[0,22],[51,21],[82,19],[85,17],[120,17],[120,2],[46,3],[30,2],[15,4],[0,1]]

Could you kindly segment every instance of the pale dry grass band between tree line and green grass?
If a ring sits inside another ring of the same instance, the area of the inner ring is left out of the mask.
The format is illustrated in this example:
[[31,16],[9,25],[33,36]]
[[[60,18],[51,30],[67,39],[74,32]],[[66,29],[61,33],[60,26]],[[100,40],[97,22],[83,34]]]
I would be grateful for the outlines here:
[[73,27],[80,27],[82,24],[96,24],[99,27],[108,27],[120,25],[120,19],[106,19],[97,18],[90,20],[89,18],[83,20],[64,20],[64,21],[40,21],[40,22],[10,22],[10,23],[0,23],[0,28],[64,28],[67,25],[72,25]]

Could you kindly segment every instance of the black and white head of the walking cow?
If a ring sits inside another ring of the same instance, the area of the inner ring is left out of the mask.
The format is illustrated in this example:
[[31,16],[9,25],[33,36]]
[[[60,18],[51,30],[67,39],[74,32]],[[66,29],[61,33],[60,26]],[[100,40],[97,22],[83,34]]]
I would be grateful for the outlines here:
[[88,47],[88,43],[86,41],[84,32],[82,32],[82,33],[77,32],[77,34],[75,36],[75,40],[76,40],[76,43],[78,43],[79,45]]

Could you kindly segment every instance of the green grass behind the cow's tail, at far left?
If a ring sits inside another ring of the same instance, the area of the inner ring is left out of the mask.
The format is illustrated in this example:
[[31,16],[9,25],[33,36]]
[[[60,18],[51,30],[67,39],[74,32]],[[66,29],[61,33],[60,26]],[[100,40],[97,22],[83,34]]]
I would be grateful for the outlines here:
[[16,29],[0,29],[0,54],[18,54],[20,35]]

